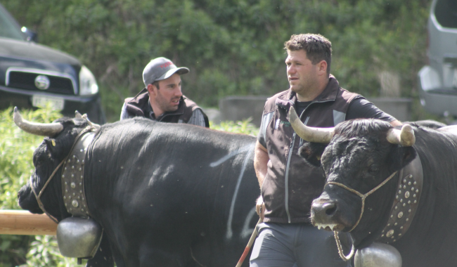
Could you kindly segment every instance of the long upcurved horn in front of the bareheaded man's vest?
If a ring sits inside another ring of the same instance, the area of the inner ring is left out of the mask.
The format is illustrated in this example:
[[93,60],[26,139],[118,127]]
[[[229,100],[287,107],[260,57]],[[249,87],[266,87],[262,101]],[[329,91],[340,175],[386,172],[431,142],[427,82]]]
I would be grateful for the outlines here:
[[335,133],[335,127],[331,128],[318,128],[318,127],[309,127],[303,124],[303,122],[298,118],[295,108],[292,106],[289,109],[289,122],[292,124],[292,128],[295,133],[300,136],[304,141],[314,142],[314,143],[330,143],[332,140],[333,134]]

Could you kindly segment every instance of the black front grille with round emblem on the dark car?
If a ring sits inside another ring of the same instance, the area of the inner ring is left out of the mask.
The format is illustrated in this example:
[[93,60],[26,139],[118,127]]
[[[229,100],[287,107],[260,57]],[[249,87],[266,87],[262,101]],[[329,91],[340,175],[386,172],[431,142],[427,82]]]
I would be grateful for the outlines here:
[[49,74],[44,74],[49,78],[49,88],[46,90],[38,89],[37,86],[35,86],[35,79],[39,75],[43,74],[34,72],[11,71],[9,72],[7,86],[30,91],[44,91],[48,93],[60,93],[65,95],[75,94],[73,83],[70,78]]

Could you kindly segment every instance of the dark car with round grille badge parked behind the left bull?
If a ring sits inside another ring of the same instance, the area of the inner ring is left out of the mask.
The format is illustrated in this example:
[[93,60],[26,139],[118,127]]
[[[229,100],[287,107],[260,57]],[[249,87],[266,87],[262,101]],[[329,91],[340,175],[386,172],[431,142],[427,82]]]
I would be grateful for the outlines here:
[[0,4],[0,108],[51,106],[65,116],[75,110],[105,123],[94,74],[76,58],[37,44]]

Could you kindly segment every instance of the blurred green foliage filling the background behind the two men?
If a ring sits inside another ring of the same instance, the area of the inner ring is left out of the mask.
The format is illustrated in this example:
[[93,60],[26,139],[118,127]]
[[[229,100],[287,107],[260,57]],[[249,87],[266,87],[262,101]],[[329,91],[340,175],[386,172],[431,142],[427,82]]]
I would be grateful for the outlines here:
[[[207,107],[230,95],[288,88],[283,43],[323,34],[333,43],[332,73],[364,96],[378,96],[377,73],[401,77],[416,97],[425,65],[431,0],[4,0],[42,44],[77,56],[101,87],[108,120],[142,87],[143,67],[165,56],[191,69],[184,93]],[[417,118],[415,118],[417,119]]]

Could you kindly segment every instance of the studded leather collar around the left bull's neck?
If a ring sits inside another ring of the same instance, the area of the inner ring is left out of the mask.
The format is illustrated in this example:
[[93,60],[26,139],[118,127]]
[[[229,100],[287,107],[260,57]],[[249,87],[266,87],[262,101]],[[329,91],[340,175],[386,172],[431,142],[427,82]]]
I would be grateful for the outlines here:
[[93,131],[84,133],[75,143],[70,155],[63,164],[62,193],[68,213],[89,218],[86,195],[84,193],[84,157],[89,144],[94,140]]

